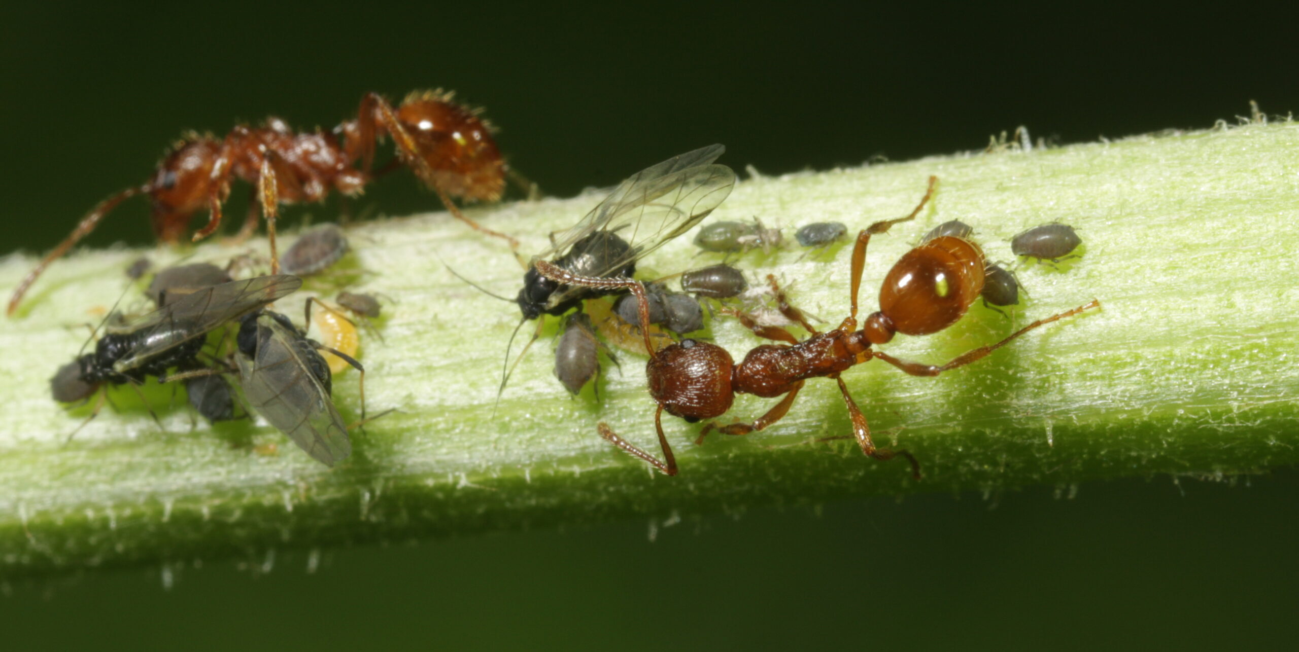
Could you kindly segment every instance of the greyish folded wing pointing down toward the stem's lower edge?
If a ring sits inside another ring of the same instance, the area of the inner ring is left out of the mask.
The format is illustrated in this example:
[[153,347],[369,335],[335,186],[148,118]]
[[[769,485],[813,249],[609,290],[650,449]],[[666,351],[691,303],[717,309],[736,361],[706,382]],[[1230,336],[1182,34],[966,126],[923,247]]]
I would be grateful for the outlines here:
[[352,455],[352,442],[334,400],[294,345],[299,339],[273,317],[259,317],[256,356],[235,356],[240,383],[259,414],[307,455],[334,466]]

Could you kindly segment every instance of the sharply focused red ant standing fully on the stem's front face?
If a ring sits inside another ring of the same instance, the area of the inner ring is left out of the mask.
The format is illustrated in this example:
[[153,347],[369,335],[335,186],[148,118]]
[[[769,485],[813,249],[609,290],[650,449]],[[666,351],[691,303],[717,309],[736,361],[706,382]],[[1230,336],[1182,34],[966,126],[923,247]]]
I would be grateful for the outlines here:
[[[861,447],[861,452],[877,460],[903,456],[911,461],[912,474],[918,479],[920,464],[909,452],[876,448],[870,440],[870,427],[866,425],[866,418],[861,414],[856,401],[852,400],[852,395],[848,394],[848,387],[839,374],[870,358],[879,358],[911,375],[938,375],[979,360],[1038,326],[1100,305],[1099,301],[1092,300],[1079,308],[1038,320],[996,344],[976,348],[940,366],[908,362],[889,353],[873,351],[872,345],[891,340],[895,332],[907,335],[938,332],[956,323],[970,304],[979,297],[986,265],[982,249],[961,238],[935,238],[916,247],[894,265],[879,291],[879,312],[868,317],[863,329],[857,330],[857,291],[861,287],[861,270],[865,265],[866,244],[870,242],[870,236],[889,231],[889,227],[895,223],[913,219],[933,196],[937,182],[937,177],[929,178],[929,191],[909,216],[876,222],[857,234],[857,243],[852,251],[852,282],[848,295],[852,300],[852,309],[838,329],[818,332],[798,308],[790,305],[785,294],[777,287],[776,278],[769,275],[768,281],[776,292],[781,312],[791,321],[803,325],[812,336],[799,342],[785,329],[759,326],[744,313],[731,310],[730,314],[737,316],[759,336],[785,344],[756,347],[744,356],[739,365],[734,362],[726,349],[692,339],[662,347],[653,353],[646,365],[646,375],[650,381],[650,394],[659,404],[659,409],[655,412],[655,429],[659,433],[659,445],[662,448],[664,461],[659,461],[652,455],[626,442],[607,423],[599,425],[600,436],[622,451],[644,460],[655,469],[668,475],[675,475],[677,460],[662,434],[664,410],[694,423],[725,414],[730,409],[735,394],[752,394],[763,397],[785,395],[781,403],[752,423],[739,422],[726,426],[708,423],[695,443],[701,443],[703,438],[712,430],[727,435],[747,435],[779,421],[794,404],[804,381],[826,377],[834,378],[839,383],[843,403],[852,420],[853,436]],[[642,323],[648,322],[648,297],[639,281],[578,277],[546,261],[538,261],[536,269],[552,281],[573,286],[600,290],[627,288],[640,304]],[[648,342],[648,335],[646,336],[646,348],[655,351],[655,347]]]

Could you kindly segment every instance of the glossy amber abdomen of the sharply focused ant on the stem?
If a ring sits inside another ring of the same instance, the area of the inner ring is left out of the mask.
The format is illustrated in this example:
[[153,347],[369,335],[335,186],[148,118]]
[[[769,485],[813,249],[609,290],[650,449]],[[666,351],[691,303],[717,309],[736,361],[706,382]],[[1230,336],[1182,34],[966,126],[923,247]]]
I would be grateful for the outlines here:
[[929,335],[956,323],[982,291],[983,251],[969,240],[943,235],[907,252],[885,277],[879,313],[891,326],[874,314],[869,321],[883,330]]

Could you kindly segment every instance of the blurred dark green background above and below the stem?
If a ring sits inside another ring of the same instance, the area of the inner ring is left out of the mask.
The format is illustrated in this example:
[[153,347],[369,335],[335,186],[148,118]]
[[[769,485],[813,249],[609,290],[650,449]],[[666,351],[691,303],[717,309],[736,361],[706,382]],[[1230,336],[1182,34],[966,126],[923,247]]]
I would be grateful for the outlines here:
[[[147,179],[186,129],[222,134],[268,114],[330,127],[370,90],[456,88],[503,127],[517,169],[572,195],[712,142],[737,168],[783,173],[979,149],[1018,125],[1073,143],[1208,127],[1251,99],[1285,114],[1299,108],[1291,31],[1254,5],[10,4],[0,251],[48,249],[96,201]],[[229,214],[247,194],[236,188]],[[356,208],[440,207],[397,173]],[[147,214],[129,203],[88,242],[147,243]],[[0,646],[1293,644],[1296,491],[1285,470],[1089,484],[1073,499],[1038,487],[765,508],[660,523],[653,542],[633,522],[326,552],[316,573],[307,552],[249,551],[0,587]]]

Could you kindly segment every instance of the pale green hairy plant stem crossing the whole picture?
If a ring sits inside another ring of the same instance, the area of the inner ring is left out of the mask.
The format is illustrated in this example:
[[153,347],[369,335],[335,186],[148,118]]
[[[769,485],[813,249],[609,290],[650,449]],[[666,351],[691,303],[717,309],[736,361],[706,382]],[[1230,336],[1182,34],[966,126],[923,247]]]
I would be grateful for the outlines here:
[[[1059,269],[1026,264],[1031,294],[1011,318],[976,305],[952,329],[900,336],[890,353],[942,364],[1031,320],[1090,301],[1100,310],[1021,338],[991,357],[938,378],[912,378],[882,362],[844,374],[882,447],[905,462],[879,462],[850,442],[834,382],[809,381],[788,416],[746,438],[691,442],[700,425],[665,416],[681,475],[650,468],[603,442],[611,423],[657,452],[644,358],[607,369],[600,401],[572,399],[551,373],[546,336],[496,404],[505,342],[518,309],[504,296],[521,270],[508,251],[446,214],[381,219],[352,231],[360,287],[392,299],[366,336],[370,413],[396,408],[353,434],[355,455],[335,469],[312,461],[279,433],[249,422],[191,429],[183,397],[147,387],[164,427],[129,388],[118,412],[68,435],[88,408],[65,412],[48,378],[84,342],[82,322],[113,304],[122,270],[140,249],[82,252],[53,265],[0,343],[0,578],[101,565],[213,558],[266,548],[330,547],[487,530],[590,523],[630,516],[739,510],[874,494],[1068,486],[1095,478],[1257,473],[1299,460],[1299,126],[1233,130],[927,158],[851,170],[757,177],[738,184],[709,219],[791,229],[840,221],[861,229],[905,214],[937,174],[931,207],[870,243],[863,304],[918,236],[947,219],[976,229],[989,258],[1012,260],[1008,239],[1044,222],[1077,227],[1085,249]],[[647,161],[652,162],[652,161]],[[730,161],[742,166],[743,161]],[[627,170],[634,171],[634,170]],[[599,201],[598,194],[475,208],[487,226],[540,251]],[[292,214],[292,212],[290,212]],[[286,242],[291,238],[286,238]],[[653,278],[718,261],[696,256],[690,235],[642,265]],[[260,251],[261,242],[252,243]],[[737,261],[755,282],[773,273],[791,299],[833,327],[847,313],[848,258],[801,258],[788,247]],[[157,262],[235,249],[151,248]],[[13,287],[32,264],[0,264]],[[322,286],[322,282],[316,282]],[[138,301],[131,290],[123,304]],[[304,294],[305,296],[305,294]],[[281,308],[297,321],[300,304]],[[552,332],[552,320],[547,332]],[[712,336],[739,358],[760,342],[734,320]],[[521,330],[526,340],[531,326]],[[364,336],[364,334],[362,334]],[[516,342],[516,351],[518,342]],[[335,378],[335,400],[357,416],[356,373]],[[738,397],[724,421],[752,420],[774,400]],[[278,452],[268,455],[269,444]]]

